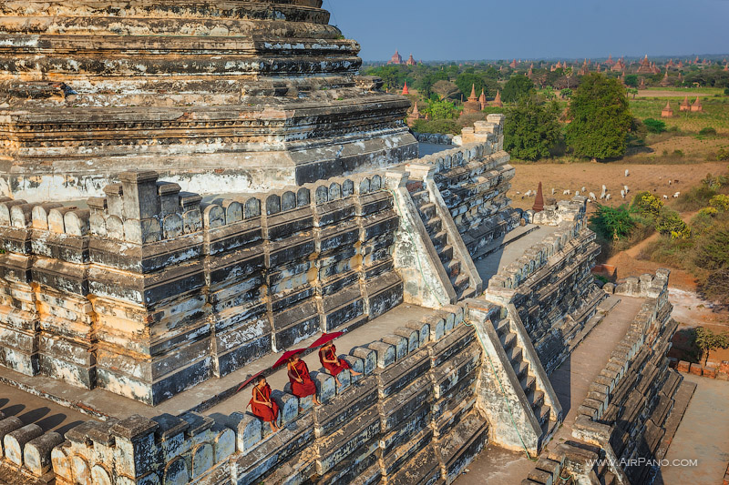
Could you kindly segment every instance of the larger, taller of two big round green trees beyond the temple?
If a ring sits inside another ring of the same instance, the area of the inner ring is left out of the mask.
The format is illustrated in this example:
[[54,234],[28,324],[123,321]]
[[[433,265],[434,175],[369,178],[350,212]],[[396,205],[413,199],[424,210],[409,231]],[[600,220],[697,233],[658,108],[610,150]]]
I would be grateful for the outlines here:
[[583,76],[572,96],[570,118],[565,135],[575,155],[604,159],[625,154],[632,116],[618,80],[596,73]]

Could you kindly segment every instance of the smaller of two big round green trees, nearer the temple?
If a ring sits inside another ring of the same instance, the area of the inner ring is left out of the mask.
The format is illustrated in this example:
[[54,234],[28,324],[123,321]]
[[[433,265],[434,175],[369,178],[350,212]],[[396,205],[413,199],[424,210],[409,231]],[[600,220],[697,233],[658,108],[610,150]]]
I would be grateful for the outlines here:
[[537,96],[522,97],[507,111],[504,149],[512,157],[539,160],[560,140],[560,106],[545,105]]

